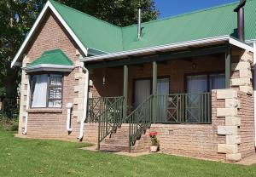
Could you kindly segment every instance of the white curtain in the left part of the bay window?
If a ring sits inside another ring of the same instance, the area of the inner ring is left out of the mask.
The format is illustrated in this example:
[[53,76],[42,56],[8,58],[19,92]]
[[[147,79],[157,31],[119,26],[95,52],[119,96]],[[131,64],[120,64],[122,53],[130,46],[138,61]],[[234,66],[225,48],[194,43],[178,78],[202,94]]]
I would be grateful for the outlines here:
[[36,75],[32,107],[46,107],[47,74]]

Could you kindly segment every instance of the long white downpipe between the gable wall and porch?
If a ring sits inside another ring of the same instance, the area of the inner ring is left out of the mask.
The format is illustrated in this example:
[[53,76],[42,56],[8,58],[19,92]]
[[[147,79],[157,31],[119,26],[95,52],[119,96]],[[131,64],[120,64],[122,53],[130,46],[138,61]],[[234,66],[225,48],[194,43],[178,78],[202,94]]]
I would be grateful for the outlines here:
[[87,102],[88,102],[88,85],[89,85],[89,71],[84,67],[84,62],[81,62],[81,68],[84,71],[84,111],[83,111],[83,117],[80,124],[80,133],[79,133],[79,140],[83,140],[84,136],[84,121],[87,117]]

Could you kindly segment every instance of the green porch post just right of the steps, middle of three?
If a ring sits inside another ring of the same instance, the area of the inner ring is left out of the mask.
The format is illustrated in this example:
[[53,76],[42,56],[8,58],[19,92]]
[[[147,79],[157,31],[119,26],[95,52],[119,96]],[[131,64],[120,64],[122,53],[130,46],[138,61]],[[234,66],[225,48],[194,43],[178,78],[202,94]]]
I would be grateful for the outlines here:
[[156,61],[153,61],[153,79],[152,79],[152,94],[153,94],[153,104],[152,104],[152,117],[153,122],[156,122],[156,116],[157,116],[157,63]]

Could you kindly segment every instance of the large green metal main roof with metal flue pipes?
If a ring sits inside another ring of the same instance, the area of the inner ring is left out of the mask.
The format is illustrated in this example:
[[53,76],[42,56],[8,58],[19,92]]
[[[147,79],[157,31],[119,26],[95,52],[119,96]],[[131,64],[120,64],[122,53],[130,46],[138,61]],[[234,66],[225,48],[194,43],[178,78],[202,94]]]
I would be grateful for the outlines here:
[[[137,25],[113,26],[61,3],[49,1],[85,47],[107,53],[181,43],[207,37],[237,36],[237,15],[233,9],[238,3],[228,3],[163,20],[145,22],[142,24],[143,37],[138,40]],[[247,0],[245,6],[247,40],[256,39],[255,9],[256,0]]]

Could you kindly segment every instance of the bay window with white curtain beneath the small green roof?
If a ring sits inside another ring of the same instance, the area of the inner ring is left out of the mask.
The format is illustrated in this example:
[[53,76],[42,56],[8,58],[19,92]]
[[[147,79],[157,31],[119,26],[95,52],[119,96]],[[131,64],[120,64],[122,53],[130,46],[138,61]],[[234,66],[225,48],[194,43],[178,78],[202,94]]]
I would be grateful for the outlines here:
[[31,85],[32,108],[62,106],[62,75],[33,75],[31,77]]

